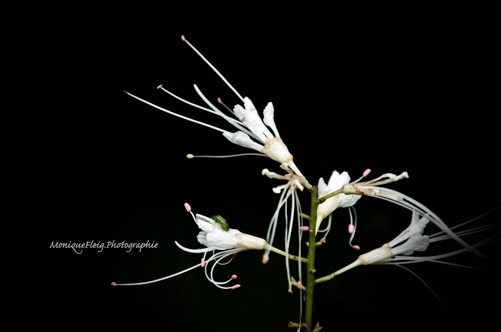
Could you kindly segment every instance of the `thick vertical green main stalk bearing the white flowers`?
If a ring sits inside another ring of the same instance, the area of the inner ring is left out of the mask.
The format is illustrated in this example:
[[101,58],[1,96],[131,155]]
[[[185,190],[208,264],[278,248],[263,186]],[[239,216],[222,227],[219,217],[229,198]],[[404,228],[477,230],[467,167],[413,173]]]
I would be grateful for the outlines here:
[[[315,230],[317,229],[317,192],[318,187],[314,186],[310,189],[311,193],[311,212],[310,212],[310,243],[315,243]],[[308,246],[308,262],[306,263],[307,267],[307,277],[306,277],[306,289],[307,291],[305,299],[306,299],[306,308],[305,308],[305,322],[306,325],[312,330],[313,328],[313,292],[315,290],[315,252],[317,250],[317,246]]]

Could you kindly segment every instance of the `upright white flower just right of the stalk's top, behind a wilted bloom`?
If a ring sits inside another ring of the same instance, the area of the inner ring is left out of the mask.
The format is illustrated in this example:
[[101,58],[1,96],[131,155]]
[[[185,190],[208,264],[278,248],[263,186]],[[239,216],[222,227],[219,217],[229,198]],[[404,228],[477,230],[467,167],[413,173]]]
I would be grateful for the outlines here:
[[[333,193],[350,183],[350,176],[347,172],[343,172],[339,174],[339,172],[332,172],[331,178],[329,179],[329,184],[325,184],[324,178],[320,178],[318,181],[318,198],[322,198],[330,193]],[[317,229],[316,232],[320,228],[320,224],[322,220],[327,218],[334,210],[337,208],[347,208],[349,206],[354,205],[360,199],[361,196],[358,195],[346,195],[339,194],[328,198],[324,203],[320,204],[317,208]]]

